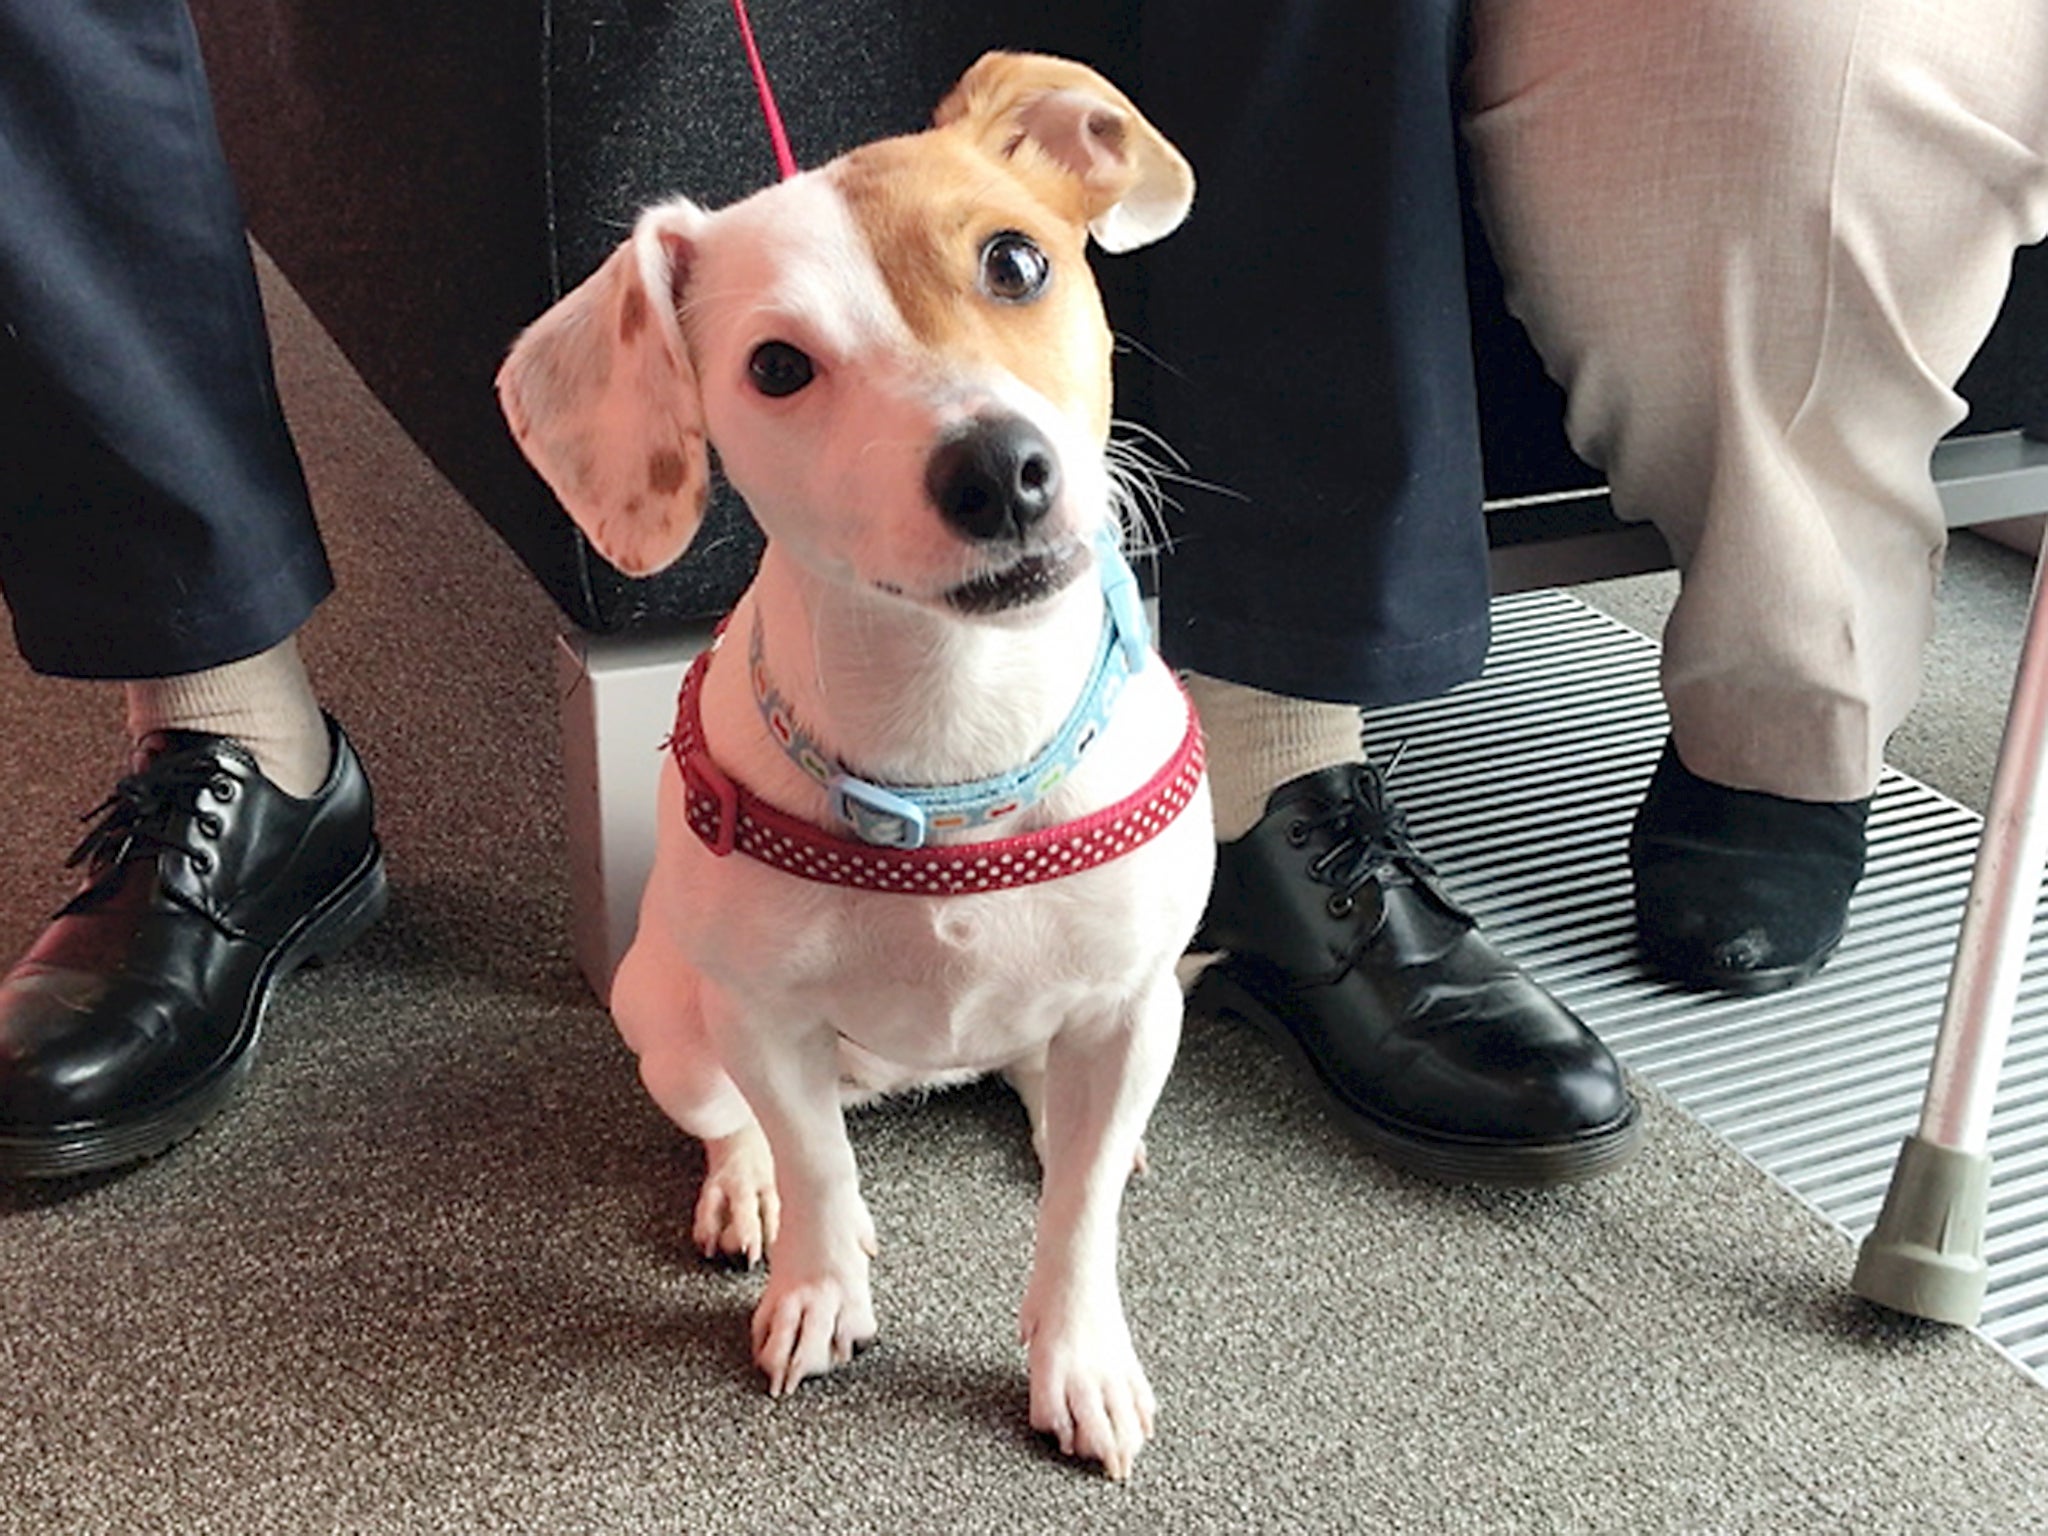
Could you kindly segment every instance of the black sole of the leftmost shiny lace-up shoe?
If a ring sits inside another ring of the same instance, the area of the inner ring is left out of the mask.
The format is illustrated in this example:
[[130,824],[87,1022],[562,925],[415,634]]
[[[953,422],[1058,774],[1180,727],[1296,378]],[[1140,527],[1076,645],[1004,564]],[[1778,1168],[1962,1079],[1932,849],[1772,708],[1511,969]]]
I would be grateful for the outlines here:
[[256,1065],[262,1016],[279,981],[309,965],[326,965],[362,934],[389,905],[383,848],[371,838],[354,872],[285,936],[262,971],[244,1014],[233,1051],[201,1081],[139,1120],[119,1126],[59,1128],[43,1135],[0,1135],[0,1178],[68,1180],[111,1174],[176,1147],[233,1098]]

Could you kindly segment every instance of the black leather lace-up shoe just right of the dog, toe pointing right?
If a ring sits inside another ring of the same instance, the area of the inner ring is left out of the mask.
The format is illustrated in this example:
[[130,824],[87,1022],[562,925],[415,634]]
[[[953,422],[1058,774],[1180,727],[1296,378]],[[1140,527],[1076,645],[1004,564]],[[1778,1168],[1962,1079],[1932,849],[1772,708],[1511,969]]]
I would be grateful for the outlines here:
[[1190,1006],[1288,1047],[1407,1169],[1559,1184],[1640,1141],[1620,1065],[1444,893],[1368,764],[1282,784],[1223,844],[1196,944],[1229,958]]

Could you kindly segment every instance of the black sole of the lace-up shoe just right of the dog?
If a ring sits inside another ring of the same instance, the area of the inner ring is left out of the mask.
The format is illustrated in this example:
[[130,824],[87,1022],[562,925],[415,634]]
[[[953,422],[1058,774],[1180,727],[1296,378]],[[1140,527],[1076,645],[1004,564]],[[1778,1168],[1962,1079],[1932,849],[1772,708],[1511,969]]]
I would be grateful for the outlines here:
[[1323,1073],[1315,1057],[1303,1049],[1294,1032],[1229,971],[1221,961],[1202,971],[1188,993],[1188,1008],[1198,1014],[1227,1016],[1249,1024],[1280,1047],[1296,1071],[1313,1083],[1323,1102],[1360,1141],[1395,1167],[1442,1184],[1491,1184],[1507,1188],[1544,1188],[1599,1178],[1626,1163],[1642,1147],[1642,1118],[1634,1102],[1628,1114],[1612,1124],[1593,1126],[1567,1141],[1473,1141],[1460,1137],[1430,1137],[1407,1126],[1376,1118],[1358,1108]]

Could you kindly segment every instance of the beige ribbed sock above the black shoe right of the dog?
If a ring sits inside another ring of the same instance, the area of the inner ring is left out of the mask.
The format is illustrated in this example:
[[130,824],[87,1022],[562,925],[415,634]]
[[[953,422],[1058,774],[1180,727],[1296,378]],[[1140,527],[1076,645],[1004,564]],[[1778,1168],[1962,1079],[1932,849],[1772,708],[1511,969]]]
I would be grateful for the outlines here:
[[1266,799],[1290,778],[1366,756],[1356,705],[1268,694],[1200,672],[1190,672],[1186,682],[1208,737],[1219,842],[1251,831],[1266,815]]

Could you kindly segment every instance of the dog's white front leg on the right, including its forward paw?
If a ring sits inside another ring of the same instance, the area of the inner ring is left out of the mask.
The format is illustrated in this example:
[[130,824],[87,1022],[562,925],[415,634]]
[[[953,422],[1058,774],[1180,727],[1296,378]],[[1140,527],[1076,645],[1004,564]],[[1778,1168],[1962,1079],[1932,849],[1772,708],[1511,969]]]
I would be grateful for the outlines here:
[[1044,1194],[1020,1317],[1030,1423],[1069,1456],[1126,1477],[1153,1427],[1116,1288],[1116,1212],[1180,1042],[1171,975],[1128,1016],[1063,1030],[1047,1051]]

